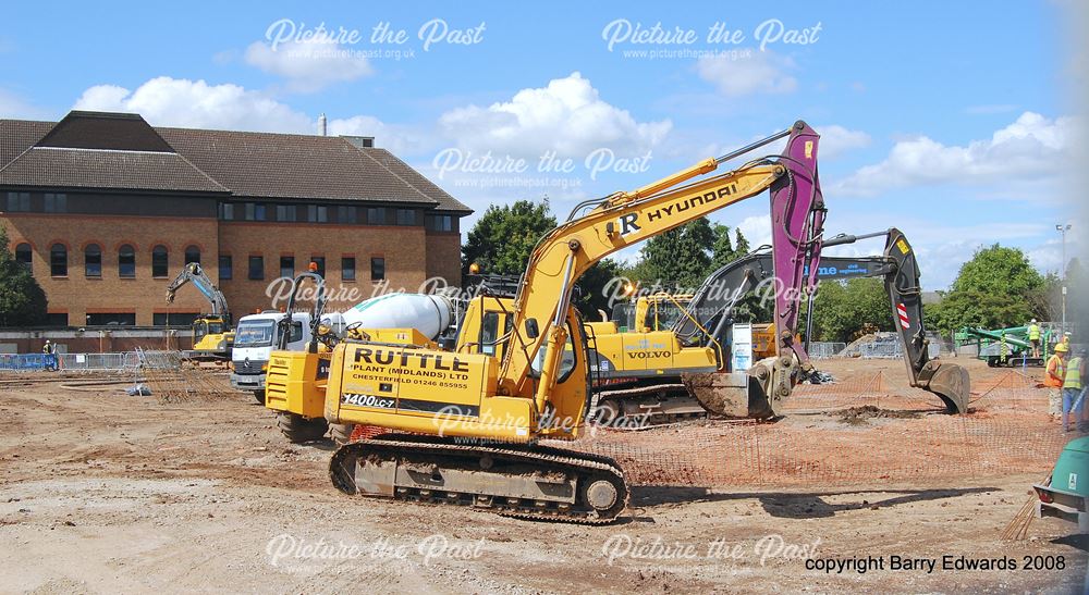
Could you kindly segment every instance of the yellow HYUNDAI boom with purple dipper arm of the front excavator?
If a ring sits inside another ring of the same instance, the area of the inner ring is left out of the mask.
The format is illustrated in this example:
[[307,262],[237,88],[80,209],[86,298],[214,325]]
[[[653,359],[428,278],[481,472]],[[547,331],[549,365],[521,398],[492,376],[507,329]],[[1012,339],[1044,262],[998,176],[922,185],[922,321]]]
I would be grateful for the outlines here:
[[[720,163],[788,137],[780,156],[750,161],[730,172],[677,187],[693,177],[712,172]],[[820,183],[817,177],[819,136],[804,122],[718,159],[709,159],[688,170],[669,176],[632,193],[617,193],[603,199],[576,207],[572,216],[546,235],[534,249],[521,280],[513,312],[512,343],[506,350],[499,374],[499,393],[535,397],[541,411],[555,382],[564,344],[567,339],[565,320],[571,303],[572,287],[578,277],[609,255],[636,243],[660,235],[713,211],[750,198],[766,189],[772,190],[773,221],[785,227],[776,241],[792,246],[791,268],[795,274],[787,285],[797,290],[813,247],[813,226],[822,221],[815,211],[823,211]],[[577,213],[589,208],[589,212]],[[776,300],[776,320],[783,330],[794,335],[796,306],[791,311],[786,300]],[[800,346],[784,340],[804,362],[808,362]],[[536,387],[527,382],[530,369],[543,349]]]

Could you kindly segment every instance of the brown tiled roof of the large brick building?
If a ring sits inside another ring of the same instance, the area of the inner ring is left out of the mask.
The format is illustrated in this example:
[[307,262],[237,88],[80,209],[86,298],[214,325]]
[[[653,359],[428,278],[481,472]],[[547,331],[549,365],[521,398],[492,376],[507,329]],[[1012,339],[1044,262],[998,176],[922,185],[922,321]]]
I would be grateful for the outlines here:
[[341,137],[151,127],[136,114],[74,111],[56,124],[0,120],[0,184],[220,191],[472,212],[384,149],[359,148]]

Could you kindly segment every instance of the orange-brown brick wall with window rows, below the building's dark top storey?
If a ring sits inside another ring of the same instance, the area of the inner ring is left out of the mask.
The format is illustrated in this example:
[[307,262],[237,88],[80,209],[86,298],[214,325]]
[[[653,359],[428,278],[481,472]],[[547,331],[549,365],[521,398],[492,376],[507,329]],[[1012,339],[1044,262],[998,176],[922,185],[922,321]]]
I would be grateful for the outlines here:
[[[64,312],[69,324],[86,324],[86,314],[135,312],[137,325],[151,325],[155,313],[208,312],[207,300],[194,287],[183,287],[167,306],[167,285],[184,264],[186,246],[200,248],[201,264],[227,296],[235,319],[272,307],[269,285],[280,276],[280,257],[293,256],[295,274],[306,270],[314,256],[326,258],[326,280],[333,292],[330,310],[343,310],[378,290],[416,292],[425,280],[461,278],[461,238],[456,233],[426,233],[423,226],[362,226],[307,223],[223,222],[212,218],[140,218],[72,214],[8,213],[10,247],[27,241],[33,247],[34,276],[49,298],[50,312]],[[69,249],[69,274],[50,275],[49,250],[60,241]],[[84,274],[84,248],[102,248],[102,274]],[[136,277],[118,274],[122,244],[136,248]],[[151,248],[169,250],[169,275],[151,277]],[[230,255],[233,275],[220,280],[219,256]],[[265,278],[248,278],[250,256],[265,259]],[[356,280],[344,281],[341,258],[354,257]],[[372,283],[370,259],[386,260],[386,284]],[[276,287],[273,288],[276,290]]]

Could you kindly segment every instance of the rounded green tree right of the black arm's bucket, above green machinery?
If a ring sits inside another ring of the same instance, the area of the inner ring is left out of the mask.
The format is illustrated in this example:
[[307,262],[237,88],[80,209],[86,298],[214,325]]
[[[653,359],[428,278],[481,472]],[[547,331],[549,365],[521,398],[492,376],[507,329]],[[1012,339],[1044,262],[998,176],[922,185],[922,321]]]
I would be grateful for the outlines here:
[[926,310],[934,330],[1003,329],[1051,318],[1044,277],[1018,248],[994,244],[976,251],[942,301]]

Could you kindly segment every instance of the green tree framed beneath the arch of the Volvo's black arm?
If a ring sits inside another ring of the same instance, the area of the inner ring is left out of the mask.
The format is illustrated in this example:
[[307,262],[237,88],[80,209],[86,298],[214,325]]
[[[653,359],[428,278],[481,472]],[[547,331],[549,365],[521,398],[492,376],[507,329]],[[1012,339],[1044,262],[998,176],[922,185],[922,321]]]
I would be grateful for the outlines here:
[[[805,303],[802,305],[803,311]],[[804,327],[804,324],[799,325]],[[813,303],[813,338],[851,342],[862,333],[892,331],[892,312],[884,282],[852,278],[821,283]]]

